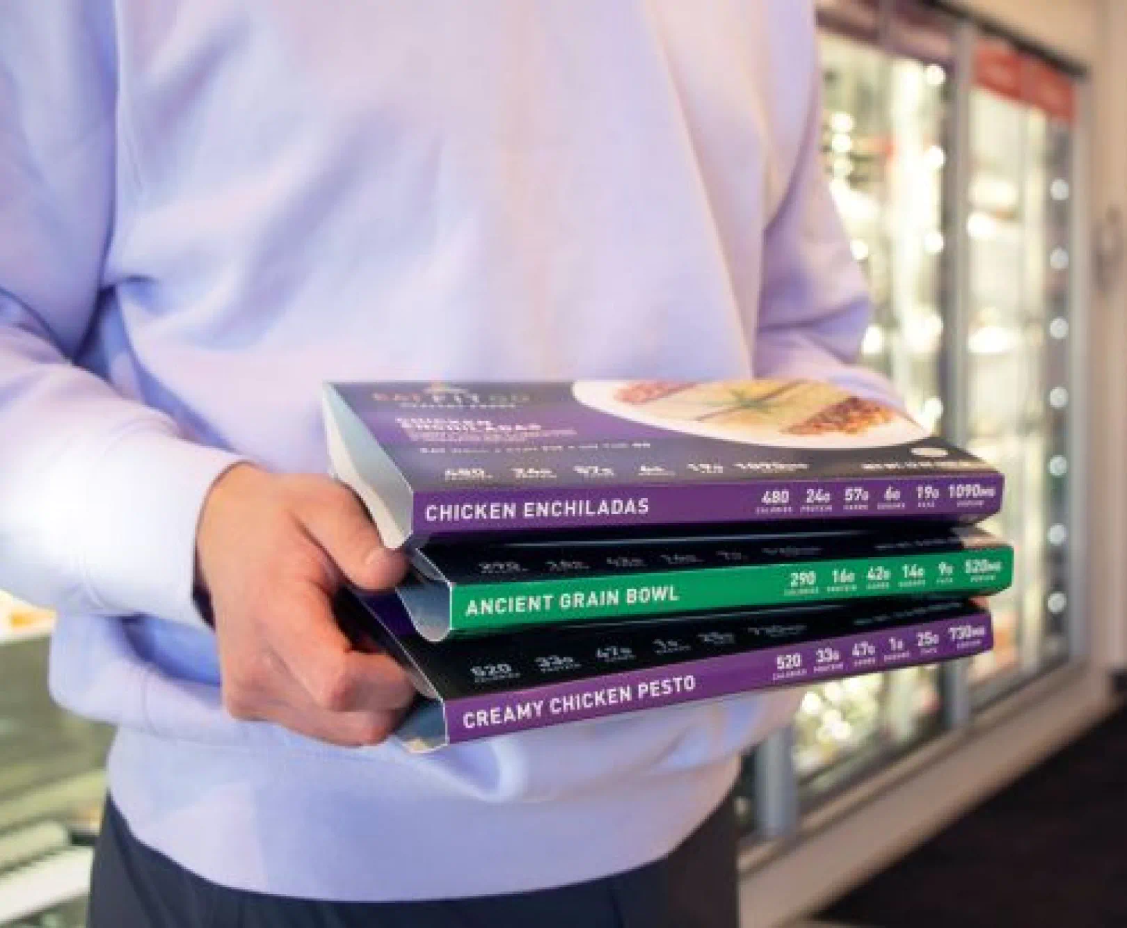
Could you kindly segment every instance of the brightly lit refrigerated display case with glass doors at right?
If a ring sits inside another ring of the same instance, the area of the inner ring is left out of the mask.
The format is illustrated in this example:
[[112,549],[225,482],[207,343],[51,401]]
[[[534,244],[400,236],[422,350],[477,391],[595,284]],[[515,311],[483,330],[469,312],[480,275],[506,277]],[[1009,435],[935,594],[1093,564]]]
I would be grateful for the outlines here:
[[809,690],[786,769],[769,766],[795,808],[760,784],[761,833],[799,828],[1072,656],[1074,78],[930,3],[817,7],[824,167],[873,300],[862,361],[1005,472],[986,528],[1014,543],[1018,576],[992,601],[992,653]]

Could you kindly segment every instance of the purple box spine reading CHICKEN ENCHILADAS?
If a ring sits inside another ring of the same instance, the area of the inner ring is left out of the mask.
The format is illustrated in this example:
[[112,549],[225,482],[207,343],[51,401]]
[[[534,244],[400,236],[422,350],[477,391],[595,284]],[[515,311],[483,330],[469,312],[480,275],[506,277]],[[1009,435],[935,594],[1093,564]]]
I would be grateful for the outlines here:
[[676,486],[452,488],[416,494],[414,534],[930,515],[977,520],[1000,510],[1002,486],[1001,474],[979,471]]

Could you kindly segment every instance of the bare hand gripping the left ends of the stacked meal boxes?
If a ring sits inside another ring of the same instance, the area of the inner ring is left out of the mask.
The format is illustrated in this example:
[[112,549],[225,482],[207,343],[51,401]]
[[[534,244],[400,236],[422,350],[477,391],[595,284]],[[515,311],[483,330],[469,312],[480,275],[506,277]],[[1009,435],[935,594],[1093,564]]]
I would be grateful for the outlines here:
[[343,745],[391,733],[414,689],[391,657],[349,643],[331,600],[344,578],[390,589],[407,565],[347,487],[237,465],[204,502],[196,553],[231,715]]

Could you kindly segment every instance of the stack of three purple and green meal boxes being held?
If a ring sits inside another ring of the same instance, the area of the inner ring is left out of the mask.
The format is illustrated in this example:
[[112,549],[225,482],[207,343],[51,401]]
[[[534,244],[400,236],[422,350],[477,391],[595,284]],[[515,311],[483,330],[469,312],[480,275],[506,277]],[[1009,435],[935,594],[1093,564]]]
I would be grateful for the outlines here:
[[992,646],[1002,477],[817,381],[335,383],[336,476],[409,578],[347,595],[411,750]]

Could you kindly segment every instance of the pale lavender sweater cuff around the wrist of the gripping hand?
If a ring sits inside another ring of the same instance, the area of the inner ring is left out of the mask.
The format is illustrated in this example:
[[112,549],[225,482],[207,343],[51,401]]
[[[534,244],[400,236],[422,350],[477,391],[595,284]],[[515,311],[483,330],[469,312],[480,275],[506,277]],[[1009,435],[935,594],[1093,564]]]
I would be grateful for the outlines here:
[[165,431],[121,434],[88,472],[78,546],[88,594],[107,613],[204,626],[196,528],[212,485],[245,458]]

